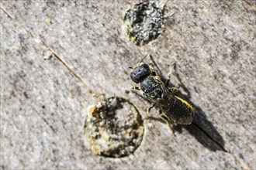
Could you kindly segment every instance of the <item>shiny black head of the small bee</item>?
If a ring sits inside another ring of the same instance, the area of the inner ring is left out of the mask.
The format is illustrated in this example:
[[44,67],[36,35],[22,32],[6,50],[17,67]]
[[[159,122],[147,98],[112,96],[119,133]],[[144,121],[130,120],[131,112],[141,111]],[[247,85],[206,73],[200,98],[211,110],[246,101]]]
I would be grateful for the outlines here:
[[147,64],[141,64],[133,69],[130,73],[130,78],[134,83],[142,82],[151,73],[150,67]]

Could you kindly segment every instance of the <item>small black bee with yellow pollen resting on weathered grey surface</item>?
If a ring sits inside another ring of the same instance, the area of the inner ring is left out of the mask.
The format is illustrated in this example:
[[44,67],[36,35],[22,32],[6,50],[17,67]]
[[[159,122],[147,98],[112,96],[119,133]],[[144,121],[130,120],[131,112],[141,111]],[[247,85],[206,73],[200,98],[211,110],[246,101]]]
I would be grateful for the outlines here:
[[160,116],[170,127],[171,121],[177,124],[191,124],[195,109],[187,101],[174,95],[176,88],[168,89],[170,77],[166,83],[163,83],[150,66],[142,63],[143,59],[135,68],[130,67],[133,69],[130,78],[134,83],[140,83],[140,87],[134,87],[134,89],[141,90],[144,97],[153,102],[148,111],[154,106],[160,108]]

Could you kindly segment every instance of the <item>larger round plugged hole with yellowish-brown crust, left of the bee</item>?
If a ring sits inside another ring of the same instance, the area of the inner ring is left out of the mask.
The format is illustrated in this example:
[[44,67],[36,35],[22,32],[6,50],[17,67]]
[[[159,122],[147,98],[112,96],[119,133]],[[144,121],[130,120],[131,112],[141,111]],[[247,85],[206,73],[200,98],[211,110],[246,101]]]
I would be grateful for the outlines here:
[[137,108],[122,97],[109,97],[89,107],[85,118],[85,145],[96,155],[120,158],[132,154],[144,135]]

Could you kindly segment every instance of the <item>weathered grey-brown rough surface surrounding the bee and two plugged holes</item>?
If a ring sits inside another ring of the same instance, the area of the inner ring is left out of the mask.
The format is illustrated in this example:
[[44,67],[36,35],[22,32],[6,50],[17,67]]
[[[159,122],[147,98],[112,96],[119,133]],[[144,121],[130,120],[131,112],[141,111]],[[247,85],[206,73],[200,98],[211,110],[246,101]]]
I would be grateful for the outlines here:
[[[166,14],[175,14],[163,35],[141,47],[122,27],[133,2],[1,2],[2,169],[256,167],[256,2],[169,0]],[[147,100],[125,93],[134,85],[127,67],[146,53],[165,78],[176,66],[171,81],[195,121],[174,136],[153,109],[133,155],[93,155],[83,141],[97,101],[88,88],[125,97],[147,117]]]

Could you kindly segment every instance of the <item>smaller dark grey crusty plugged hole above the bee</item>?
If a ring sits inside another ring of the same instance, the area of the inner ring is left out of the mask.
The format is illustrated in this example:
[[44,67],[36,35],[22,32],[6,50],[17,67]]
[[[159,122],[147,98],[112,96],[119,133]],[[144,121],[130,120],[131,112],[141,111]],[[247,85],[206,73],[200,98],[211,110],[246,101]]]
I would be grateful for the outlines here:
[[130,40],[143,46],[164,31],[164,5],[142,1],[126,12],[124,22]]

